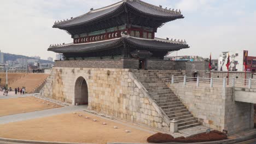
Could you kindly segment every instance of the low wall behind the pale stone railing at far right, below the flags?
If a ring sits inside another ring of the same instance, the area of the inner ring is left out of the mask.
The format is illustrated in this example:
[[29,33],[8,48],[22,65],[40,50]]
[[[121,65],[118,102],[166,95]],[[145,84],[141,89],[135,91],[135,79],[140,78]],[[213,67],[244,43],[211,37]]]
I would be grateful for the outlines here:
[[[211,76],[213,78],[220,78],[223,79],[224,77],[228,76],[228,72],[227,71],[211,71]],[[253,77],[253,73],[247,71],[247,79],[249,78],[254,78]],[[245,79],[245,71],[229,71],[229,77],[234,77],[236,79]]]

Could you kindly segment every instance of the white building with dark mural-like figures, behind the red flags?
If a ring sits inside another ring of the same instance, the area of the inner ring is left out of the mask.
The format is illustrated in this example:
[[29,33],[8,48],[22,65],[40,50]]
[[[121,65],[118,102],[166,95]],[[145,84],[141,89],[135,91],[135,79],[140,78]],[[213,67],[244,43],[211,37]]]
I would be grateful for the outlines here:
[[228,55],[230,59],[230,71],[244,71],[245,65],[243,65],[243,62],[245,61],[245,53],[248,51],[240,50],[240,51],[228,51],[228,52],[222,52],[222,55],[220,55],[218,59],[218,70],[219,71],[228,71],[226,68],[226,63],[228,61]]

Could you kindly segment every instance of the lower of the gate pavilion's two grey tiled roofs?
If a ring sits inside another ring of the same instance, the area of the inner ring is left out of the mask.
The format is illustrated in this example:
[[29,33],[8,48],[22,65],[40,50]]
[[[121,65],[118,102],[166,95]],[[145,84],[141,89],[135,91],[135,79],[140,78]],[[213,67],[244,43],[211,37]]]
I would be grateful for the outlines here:
[[122,35],[121,38],[96,41],[84,44],[63,44],[50,45],[48,51],[57,53],[88,53],[110,50],[117,47],[127,47],[131,49],[170,52],[189,48],[185,41],[166,40],[166,39],[143,39]]

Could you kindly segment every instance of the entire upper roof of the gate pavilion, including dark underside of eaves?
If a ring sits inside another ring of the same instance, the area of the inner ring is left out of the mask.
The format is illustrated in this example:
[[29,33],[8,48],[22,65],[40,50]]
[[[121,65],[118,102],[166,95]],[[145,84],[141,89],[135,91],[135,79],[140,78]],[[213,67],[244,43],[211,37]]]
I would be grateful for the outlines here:
[[[95,25],[98,25],[98,29],[125,24],[158,28],[165,22],[182,18],[184,17],[179,10],[164,9],[140,0],[123,0],[107,7],[92,9],[88,13],[70,20],[55,22],[53,27],[65,29],[68,32],[72,28],[95,27]],[[84,32],[90,31],[89,29],[83,30],[85,30]],[[69,33],[72,34],[72,32]]]

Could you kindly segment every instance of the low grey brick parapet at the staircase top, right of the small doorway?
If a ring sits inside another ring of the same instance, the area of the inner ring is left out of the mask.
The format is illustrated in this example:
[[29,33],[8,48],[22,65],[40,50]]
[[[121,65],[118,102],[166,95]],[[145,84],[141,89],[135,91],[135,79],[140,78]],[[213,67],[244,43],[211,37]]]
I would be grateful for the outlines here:
[[168,60],[148,60],[148,69],[158,69],[158,70],[172,70],[174,69],[174,61]]

